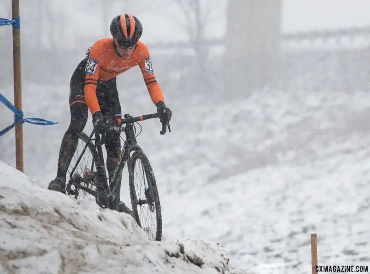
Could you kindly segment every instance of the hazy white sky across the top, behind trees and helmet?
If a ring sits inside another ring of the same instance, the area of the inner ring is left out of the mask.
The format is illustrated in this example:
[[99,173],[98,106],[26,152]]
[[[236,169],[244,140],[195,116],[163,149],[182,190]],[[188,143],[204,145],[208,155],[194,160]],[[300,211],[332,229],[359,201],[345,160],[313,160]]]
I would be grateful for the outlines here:
[[[86,3],[89,1],[92,0],[77,2],[54,0],[54,12],[59,13],[62,16],[61,20],[64,21],[64,28],[59,31],[62,39],[68,41],[71,47],[77,47],[82,41],[83,44],[92,43],[102,35],[109,35],[111,18],[122,12],[133,13],[140,17],[145,30],[142,37],[144,42],[188,40],[189,38],[185,28],[178,24],[178,22],[185,23],[185,17],[175,1],[143,0],[131,4],[119,0],[112,1],[108,5],[108,18],[104,23],[101,4],[99,4],[101,0],[93,1],[95,4],[86,8]],[[11,1],[8,0],[7,3],[10,12]],[[203,9],[208,10],[206,14],[213,13],[206,27],[206,37],[222,38],[226,33],[227,0],[204,0],[202,3],[210,7]],[[283,33],[370,26],[370,0],[283,0],[282,3]],[[26,13],[26,11],[23,12]],[[6,14],[0,14],[0,17],[6,16]],[[24,15],[23,18],[27,16],[31,18],[29,14]],[[27,27],[23,30],[27,31]]]

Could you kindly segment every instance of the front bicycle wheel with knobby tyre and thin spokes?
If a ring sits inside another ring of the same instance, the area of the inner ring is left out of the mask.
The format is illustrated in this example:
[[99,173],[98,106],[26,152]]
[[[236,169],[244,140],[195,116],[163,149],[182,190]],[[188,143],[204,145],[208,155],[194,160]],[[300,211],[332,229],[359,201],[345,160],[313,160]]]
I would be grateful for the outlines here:
[[132,154],[128,169],[131,205],[135,219],[150,240],[160,241],[162,213],[158,189],[153,170],[143,151],[137,150]]

